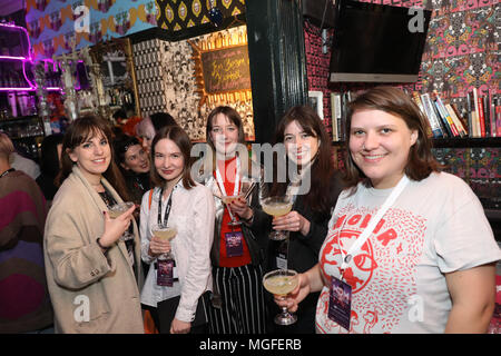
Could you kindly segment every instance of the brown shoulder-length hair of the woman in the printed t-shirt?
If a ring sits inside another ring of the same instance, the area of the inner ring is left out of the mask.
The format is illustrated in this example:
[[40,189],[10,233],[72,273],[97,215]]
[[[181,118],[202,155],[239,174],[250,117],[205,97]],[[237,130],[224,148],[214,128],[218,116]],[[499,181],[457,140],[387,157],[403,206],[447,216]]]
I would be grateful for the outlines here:
[[418,140],[409,151],[405,175],[412,180],[422,180],[432,171],[440,171],[440,165],[431,151],[432,141],[426,135],[429,121],[415,102],[401,89],[394,87],[375,87],[362,93],[348,103],[348,112],[345,126],[346,139],[346,184],[355,187],[360,181],[371,187],[371,180],[355,165],[350,154],[350,131],[352,117],[360,110],[381,110],[400,117],[411,130],[418,131]]

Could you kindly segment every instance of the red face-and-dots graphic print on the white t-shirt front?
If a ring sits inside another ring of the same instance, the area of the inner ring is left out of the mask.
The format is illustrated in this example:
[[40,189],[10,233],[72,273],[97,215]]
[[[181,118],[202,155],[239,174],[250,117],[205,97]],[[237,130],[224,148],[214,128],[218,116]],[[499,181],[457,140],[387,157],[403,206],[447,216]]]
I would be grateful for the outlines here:
[[[338,277],[342,254],[377,211],[347,205],[340,209],[334,227],[321,251],[324,276]],[[410,297],[416,294],[415,266],[424,246],[425,219],[402,209],[389,209],[374,233],[344,270],[344,280],[352,288],[350,333],[391,333],[407,317]],[[321,295],[317,327],[324,333],[347,333],[327,317],[328,290]]]

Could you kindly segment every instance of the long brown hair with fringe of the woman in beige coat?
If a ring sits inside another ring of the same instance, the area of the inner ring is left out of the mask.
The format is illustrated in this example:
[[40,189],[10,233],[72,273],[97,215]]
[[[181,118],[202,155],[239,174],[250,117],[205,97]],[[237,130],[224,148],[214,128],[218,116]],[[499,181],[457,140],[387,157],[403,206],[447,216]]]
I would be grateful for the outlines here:
[[75,162],[70,159],[68,151],[72,151],[75,148],[87,141],[87,139],[100,135],[106,137],[108,145],[110,146],[111,155],[108,169],[102,174],[102,176],[111,184],[115,190],[117,190],[120,198],[128,200],[129,194],[126,188],[124,177],[121,176],[114,159],[111,128],[104,119],[95,116],[78,118],[68,127],[65,138],[62,139],[61,170],[56,177],[56,185],[60,186],[73,169]]

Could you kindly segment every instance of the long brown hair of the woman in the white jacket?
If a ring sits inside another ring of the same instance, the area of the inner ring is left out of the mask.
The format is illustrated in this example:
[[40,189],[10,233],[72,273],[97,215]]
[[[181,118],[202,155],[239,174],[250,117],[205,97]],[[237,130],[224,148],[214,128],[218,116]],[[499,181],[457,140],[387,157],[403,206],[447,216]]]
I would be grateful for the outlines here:
[[165,185],[165,179],[157,172],[155,168],[155,147],[158,141],[167,138],[176,144],[179,147],[183,159],[184,159],[184,169],[183,169],[183,186],[186,189],[191,189],[195,187],[195,181],[191,178],[191,141],[189,140],[188,135],[179,126],[166,126],[161,128],[151,142],[151,168],[150,168],[150,178],[153,184],[156,187],[163,187]]

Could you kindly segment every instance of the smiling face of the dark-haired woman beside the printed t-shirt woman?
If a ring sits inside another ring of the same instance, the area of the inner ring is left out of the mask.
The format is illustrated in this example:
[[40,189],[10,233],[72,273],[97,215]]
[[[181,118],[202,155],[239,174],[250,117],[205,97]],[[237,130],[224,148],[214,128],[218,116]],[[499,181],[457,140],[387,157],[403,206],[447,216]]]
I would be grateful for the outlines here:
[[285,127],[284,145],[288,158],[298,166],[305,166],[316,156],[320,140],[317,137],[306,132],[294,120]]

